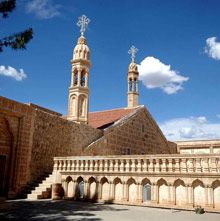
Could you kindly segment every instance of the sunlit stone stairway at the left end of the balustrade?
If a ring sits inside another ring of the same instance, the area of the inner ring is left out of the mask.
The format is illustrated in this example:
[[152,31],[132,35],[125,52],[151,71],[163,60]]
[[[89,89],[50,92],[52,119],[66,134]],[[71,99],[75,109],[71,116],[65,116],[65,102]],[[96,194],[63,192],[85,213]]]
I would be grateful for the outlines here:
[[54,182],[54,178],[54,174],[50,174],[45,180],[38,183],[38,186],[27,195],[27,199],[38,200],[51,198],[51,185]]

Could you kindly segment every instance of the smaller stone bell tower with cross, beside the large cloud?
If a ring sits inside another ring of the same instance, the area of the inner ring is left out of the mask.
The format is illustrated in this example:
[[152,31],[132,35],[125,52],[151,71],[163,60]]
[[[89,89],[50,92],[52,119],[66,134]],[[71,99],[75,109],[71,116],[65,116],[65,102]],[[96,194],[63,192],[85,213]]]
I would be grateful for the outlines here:
[[138,93],[138,67],[135,63],[135,54],[138,49],[131,46],[128,53],[131,54],[131,63],[128,67],[128,108],[134,108],[139,105],[139,93]]

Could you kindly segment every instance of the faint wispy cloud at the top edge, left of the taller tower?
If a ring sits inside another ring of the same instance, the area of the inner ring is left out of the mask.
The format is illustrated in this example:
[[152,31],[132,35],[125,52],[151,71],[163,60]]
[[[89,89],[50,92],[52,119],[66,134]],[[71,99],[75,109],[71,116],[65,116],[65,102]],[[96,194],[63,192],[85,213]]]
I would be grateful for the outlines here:
[[50,19],[60,15],[60,5],[53,4],[52,0],[32,0],[27,3],[28,13],[34,13],[40,19]]

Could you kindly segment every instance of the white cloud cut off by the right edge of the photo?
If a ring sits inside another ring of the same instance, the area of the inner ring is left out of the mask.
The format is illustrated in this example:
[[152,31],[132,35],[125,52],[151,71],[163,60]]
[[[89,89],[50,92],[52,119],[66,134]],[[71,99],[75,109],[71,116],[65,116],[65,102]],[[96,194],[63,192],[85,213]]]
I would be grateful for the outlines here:
[[216,37],[206,39],[205,53],[213,59],[220,60],[220,42],[217,42]]

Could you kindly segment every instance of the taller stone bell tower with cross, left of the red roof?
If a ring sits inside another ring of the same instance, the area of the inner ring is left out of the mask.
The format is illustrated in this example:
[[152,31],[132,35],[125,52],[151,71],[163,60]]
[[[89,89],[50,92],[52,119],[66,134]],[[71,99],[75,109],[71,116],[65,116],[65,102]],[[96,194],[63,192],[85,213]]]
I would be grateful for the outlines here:
[[79,17],[77,25],[81,36],[73,51],[71,60],[71,84],[69,87],[67,119],[77,123],[88,123],[89,112],[89,70],[90,50],[84,33],[90,20],[85,15]]

